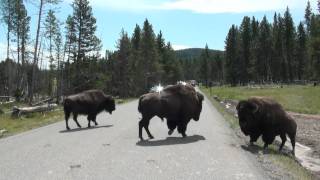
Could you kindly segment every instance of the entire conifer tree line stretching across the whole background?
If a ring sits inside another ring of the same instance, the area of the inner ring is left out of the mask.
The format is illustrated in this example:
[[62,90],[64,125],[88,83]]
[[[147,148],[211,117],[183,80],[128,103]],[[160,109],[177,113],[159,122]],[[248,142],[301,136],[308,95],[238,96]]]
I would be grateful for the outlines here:
[[[23,0],[0,1],[7,40],[0,95],[29,103],[36,96],[60,99],[93,88],[120,97],[139,96],[158,83],[179,80],[236,85],[320,77],[320,15],[312,12],[310,3],[297,28],[289,8],[284,15],[275,13],[272,24],[266,17],[261,22],[244,17],[240,27],[230,28],[225,52],[206,45],[188,58],[175,52],[161,31],[155,34],[147,19],[131,36],[122,30],[116,50],[102,57],[88,0],[73,0],[72,13],[62,21],[56,15],[60,0],[28,2],[38,8],[35,34]],[[188,51],[187,56],[194,53]]]

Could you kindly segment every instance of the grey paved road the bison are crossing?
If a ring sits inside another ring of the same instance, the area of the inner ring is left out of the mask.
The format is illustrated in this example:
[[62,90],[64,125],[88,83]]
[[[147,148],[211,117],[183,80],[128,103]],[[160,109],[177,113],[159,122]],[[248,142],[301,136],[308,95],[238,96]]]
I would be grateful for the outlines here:
[[[155,139],[143,143],[137,103],[100,114],[97,128],[66,132],[60,122],[0,140],[0,179],[267,178],[207,99],[200,120],[189,123],[188,138],[177,132],[168,137],[166,123],[154,118]],[[79,122],[87,124],[84,117]],[[76,127],[72,120],[70,127]]]

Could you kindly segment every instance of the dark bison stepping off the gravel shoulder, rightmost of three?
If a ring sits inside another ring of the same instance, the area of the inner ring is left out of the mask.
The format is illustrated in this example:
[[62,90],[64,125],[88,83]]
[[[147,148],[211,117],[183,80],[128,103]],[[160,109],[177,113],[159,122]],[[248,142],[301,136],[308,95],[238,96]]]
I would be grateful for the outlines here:
[[280,135],[282,143],[279,151],[281,151],[288,135],[294,155],[297,124],[279,103],[269,98],[253,97],[240,101],[237,111],[241,131],[246,136],[250,136],[251,144],[262,135],[264,149],[266,149],[275,137]]

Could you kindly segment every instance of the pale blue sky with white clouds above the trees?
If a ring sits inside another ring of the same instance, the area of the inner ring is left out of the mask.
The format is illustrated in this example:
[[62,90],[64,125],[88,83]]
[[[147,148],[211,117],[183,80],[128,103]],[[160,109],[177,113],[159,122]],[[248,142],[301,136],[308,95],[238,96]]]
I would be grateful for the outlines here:
[[[115,50],[122,29],[132,34],[136,24],[143,26],[147,18],[155,33],[161,30],[174,49],[203,48],[223,50],[232,24],[240,25],[244,16],[264,15],[272,22],[275,12],[290,8],[295,25],[304,18],[307,0],[89,0],[97,19],[96,35],[102,40],[103,51]],[[30,2],[30,1],[28,1]],[[58,18],[65,22],[72,14],[72,0],[63,0]],[[316,12],[317,0],[310,0]],[[48,6],[46,7],[49,8]],[[36,6],[27,4],[32,18],[31,38],[35,38]],[[62,26],[63,27],[63,26]],[[0,25],[0,58],[5,56],[4,25]]]

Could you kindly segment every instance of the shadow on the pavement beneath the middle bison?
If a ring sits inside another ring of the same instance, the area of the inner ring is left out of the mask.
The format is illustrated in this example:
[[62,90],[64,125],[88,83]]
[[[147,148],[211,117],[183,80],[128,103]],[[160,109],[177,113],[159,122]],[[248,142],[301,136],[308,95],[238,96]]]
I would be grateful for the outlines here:
[[168,146],[168,145],[195,143],[195,142],[201,141],[201,140],[206,140],[206,138],[201,135],[193,135],[193,136],[188,136],[186,138],[167,137],[166,139],[161,139],[161,140],[139,141],[136,143],[136,145],[138,145],[138,146]]

